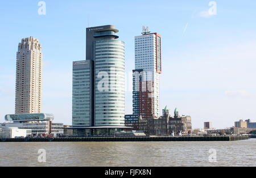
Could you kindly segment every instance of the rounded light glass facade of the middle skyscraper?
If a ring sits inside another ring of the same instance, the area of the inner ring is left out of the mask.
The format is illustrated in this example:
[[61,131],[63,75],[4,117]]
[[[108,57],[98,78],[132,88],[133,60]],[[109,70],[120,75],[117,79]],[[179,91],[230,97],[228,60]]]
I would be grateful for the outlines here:
[[[125,44],[119,40],[95,41],[95,124],[125,124]],[[102,86],[102,82],[106,86]]]

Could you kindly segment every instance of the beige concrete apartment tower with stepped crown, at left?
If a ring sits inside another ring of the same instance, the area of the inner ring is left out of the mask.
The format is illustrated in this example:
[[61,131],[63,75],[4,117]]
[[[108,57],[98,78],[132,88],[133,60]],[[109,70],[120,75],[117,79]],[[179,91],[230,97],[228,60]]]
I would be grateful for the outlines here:
[[41,112],[42,60],[39,40],[22,39],[16,54],[16,114]]

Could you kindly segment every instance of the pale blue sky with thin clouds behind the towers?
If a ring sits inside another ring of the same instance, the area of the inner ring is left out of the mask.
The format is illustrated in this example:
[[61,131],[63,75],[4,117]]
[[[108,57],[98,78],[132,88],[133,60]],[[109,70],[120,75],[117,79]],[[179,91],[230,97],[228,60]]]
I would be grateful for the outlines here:
[[107,24],[125,42],[127,75],[142,26],[162,35],[161,110],[177,108],[192,117],[193,128],[203,128],[204,121],[214,128],[256,121],[256,1],[45,0],[45,15],[39,2],[0,2],[0,122],[15,110],[18,43],[34,36],[44,56],[42,112],[71,125],[72,61],[85,60],[85,29]]

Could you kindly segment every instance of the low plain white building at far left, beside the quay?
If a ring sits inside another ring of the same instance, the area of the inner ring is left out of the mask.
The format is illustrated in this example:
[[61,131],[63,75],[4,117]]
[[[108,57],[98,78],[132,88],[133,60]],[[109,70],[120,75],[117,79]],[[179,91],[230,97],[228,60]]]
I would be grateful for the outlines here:
[[0,128],[0,138],[29,137],[31,129]]

